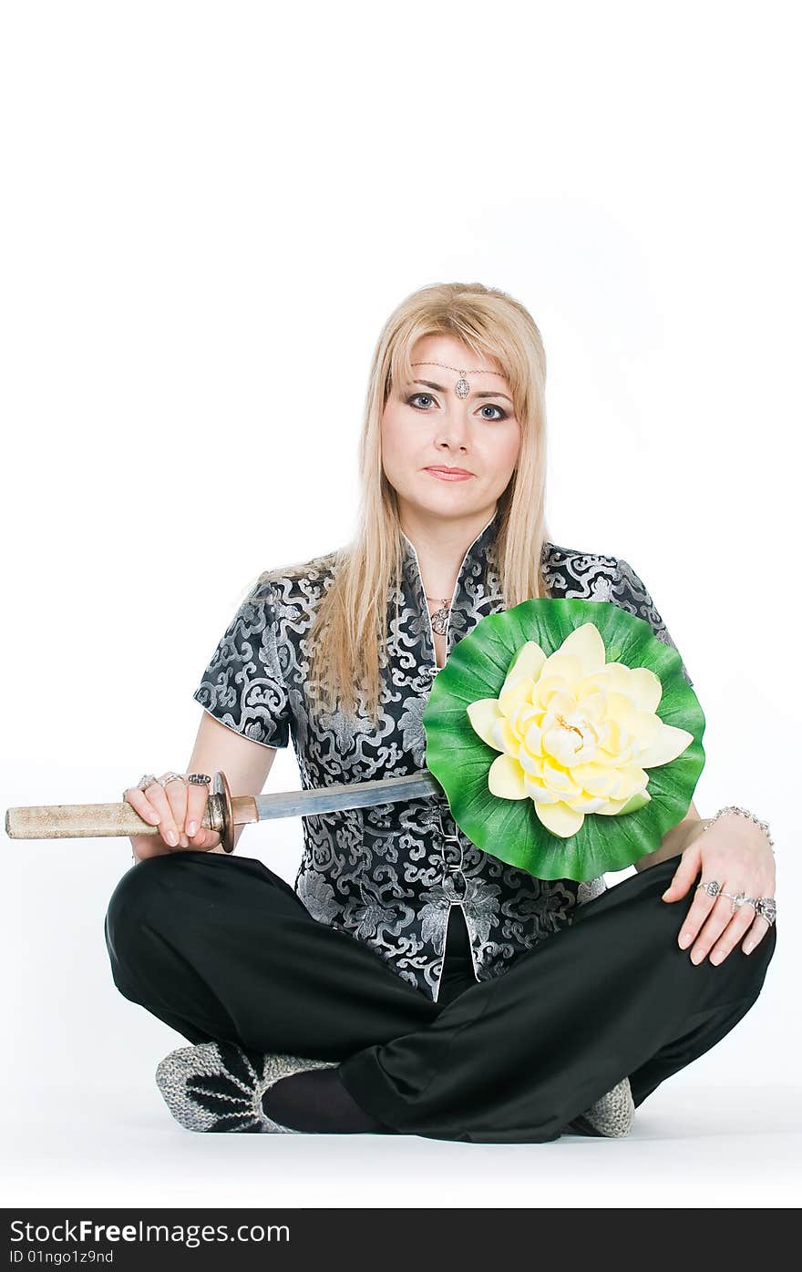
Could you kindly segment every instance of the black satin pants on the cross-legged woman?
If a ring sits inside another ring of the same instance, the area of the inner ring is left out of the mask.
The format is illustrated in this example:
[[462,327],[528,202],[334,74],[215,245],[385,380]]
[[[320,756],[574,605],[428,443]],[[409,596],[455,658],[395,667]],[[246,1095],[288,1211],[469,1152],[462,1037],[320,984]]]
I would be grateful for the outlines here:
[[544,1142],[624,1076],[642,1104],[760,993],[777,925],[751,954],[691,963],[677,936],[694,892],[661,901],[677,865],[628,875],[490,981],[472,976],[454,907],[438,1002],[241,855],[131,866],[106,945],[120,992],[192,1043],[340,1061],[356,1103],[400,1133]]

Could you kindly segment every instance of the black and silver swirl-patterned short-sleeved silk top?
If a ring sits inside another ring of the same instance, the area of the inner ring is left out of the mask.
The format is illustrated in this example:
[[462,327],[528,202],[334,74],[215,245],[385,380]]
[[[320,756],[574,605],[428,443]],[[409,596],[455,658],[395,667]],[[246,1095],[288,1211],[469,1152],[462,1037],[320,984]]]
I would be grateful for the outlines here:
[[[494,553],[498,511],[465,553],[448,619],[447,655],[485,614],[504,609]],[[418,553],[406,550],[390,589],[382,651],[379,729],[367,714],[317,712],[304,688],[316,602],[332,580],[334,553],[252,588],[220,639],[195,698],[216,720],[266,747],[292,738],[303,789],[400,777],[424,767],[421,716],[438,667]],[[551,597],[611,600],[673,641],[624,560],[544,546]],[[397,591],[397,597],[396,597]],[[396,619],[396,599],[398,616]],[[675,646],[676,647],[676,646]],[[693,683],[685,667],[682,672]],[[574,906],[606,889],[605,876],[541,880],[477,848],[444,796],[307,815],[294,889],[321,923],[363,941],[404,981],[437,1001],[448,916],[461,906],[479,981],[572,921]]]

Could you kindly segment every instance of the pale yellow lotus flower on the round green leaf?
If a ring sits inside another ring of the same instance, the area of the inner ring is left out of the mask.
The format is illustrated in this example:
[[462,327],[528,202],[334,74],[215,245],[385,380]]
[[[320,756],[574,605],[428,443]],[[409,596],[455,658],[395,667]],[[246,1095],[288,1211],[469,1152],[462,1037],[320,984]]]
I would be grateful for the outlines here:
[[526,641],[498,698],[467,707],[475,731],[502,754],[488,771],[500,799],[531,799],[552,834],[569,838],[587,813],[631,813],[651,799],[647,768],[676,759],[694,740],[657,712],[663,687],[647,667],[606,663],[594,623],[554,654]]

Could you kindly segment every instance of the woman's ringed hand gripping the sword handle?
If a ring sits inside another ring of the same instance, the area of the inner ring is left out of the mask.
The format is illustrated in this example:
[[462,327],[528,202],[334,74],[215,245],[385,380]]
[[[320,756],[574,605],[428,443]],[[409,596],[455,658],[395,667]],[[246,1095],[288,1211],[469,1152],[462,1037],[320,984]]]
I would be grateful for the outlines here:
[[[157,834],[130,836],[137,861],[159,857],[165,852],[181,852],[182,848],[208,851],[216,848],[220,842],[218,831],[201,826],[209,801],[208,785],[187,782],[186,778],[173,778],[165,786],[155,781],[145,790],[129,786],[123,800],[136,809],[143,820],[159,827]],[[195,833],[191,833],[192,827]]]

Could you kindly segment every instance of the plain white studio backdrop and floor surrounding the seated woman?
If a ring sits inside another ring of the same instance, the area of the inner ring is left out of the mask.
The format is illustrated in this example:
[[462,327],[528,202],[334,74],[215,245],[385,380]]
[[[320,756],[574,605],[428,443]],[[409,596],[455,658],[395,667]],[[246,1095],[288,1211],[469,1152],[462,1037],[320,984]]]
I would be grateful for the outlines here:
[[[792,18],[704,0],[4,8],[3,809],[185,768],[243,588],[351,534],[381,324],[425,284],[479,280],[544,336],[550,538],[624,556],[651,589],[707,717],[694,801],[768,818],[779,909],[760,999],[634,1138],[204,1137],[153,1081],[181,1037],[111,981],[129,841],[6,837],[6,1203],[794,1194]],[[297,782],[290,748],[266,789]],[[246,833],[239,851],[292,880],[300,822]]]

